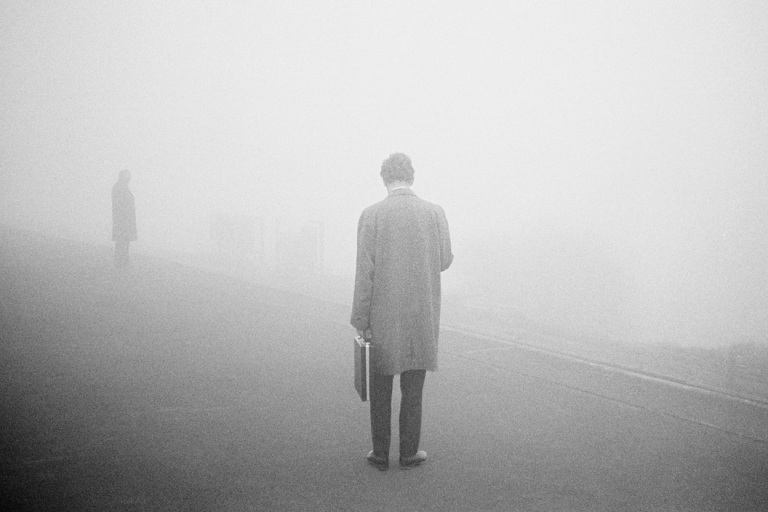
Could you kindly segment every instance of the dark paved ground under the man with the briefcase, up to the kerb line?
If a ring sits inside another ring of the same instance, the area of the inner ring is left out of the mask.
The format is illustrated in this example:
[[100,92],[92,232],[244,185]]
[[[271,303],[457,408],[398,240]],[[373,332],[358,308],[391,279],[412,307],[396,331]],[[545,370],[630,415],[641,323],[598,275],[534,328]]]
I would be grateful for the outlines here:
[[759,404],[446,330],[430,460],[382,473],[346,309],[8,230],[0,254],[4,509],[768,509]]

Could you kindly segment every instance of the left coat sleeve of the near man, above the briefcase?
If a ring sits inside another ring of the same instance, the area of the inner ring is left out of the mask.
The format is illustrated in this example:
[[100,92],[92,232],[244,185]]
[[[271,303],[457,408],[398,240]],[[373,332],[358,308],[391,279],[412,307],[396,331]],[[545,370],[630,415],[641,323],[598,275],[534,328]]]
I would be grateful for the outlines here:
[[376,226],[367,217],[367,212],[363,212],[357,223],[357,270],[350,319],[352,326],[361,331],[370,326],[375,264]]

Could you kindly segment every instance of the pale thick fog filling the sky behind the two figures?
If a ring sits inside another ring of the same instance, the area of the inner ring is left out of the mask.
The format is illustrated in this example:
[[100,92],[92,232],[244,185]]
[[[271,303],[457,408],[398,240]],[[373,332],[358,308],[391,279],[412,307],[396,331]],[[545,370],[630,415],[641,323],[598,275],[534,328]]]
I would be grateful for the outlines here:
[[[416,5],[413,5],[416,4]],[[351,279],[390,153],[447,213],[446,296],[573,332],[768,336],[768,4],[3,2],[0,222],[212,251],[322,233]],[[319,226],[319,228],[318,228]],[[344,297],[349,299],[350,297]]]

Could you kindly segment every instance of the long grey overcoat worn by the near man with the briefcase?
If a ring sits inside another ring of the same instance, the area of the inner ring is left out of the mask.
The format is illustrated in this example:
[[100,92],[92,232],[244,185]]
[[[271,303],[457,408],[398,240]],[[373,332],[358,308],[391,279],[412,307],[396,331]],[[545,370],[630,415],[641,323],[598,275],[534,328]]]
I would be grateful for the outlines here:
[[371,330],[374,372],[437,370],[440,273],[453,261],[442,207],[394,190],[363,211],[357,237],[351,324]]

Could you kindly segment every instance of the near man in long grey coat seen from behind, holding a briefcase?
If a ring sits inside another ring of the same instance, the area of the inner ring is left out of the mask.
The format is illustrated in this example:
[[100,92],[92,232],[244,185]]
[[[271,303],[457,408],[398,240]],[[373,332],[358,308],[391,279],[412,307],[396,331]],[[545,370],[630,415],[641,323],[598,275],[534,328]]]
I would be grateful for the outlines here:
[[411,159],[381,165],[387,197],[363,210],[357,226],[357,271],[351,324],[373,343],[368,463],[389,467],[394,376],[400,375],[400,466],[427,460],[419,451],[427,370],[437,370],[440,273],[453,261],[443,209],[411,191]]

